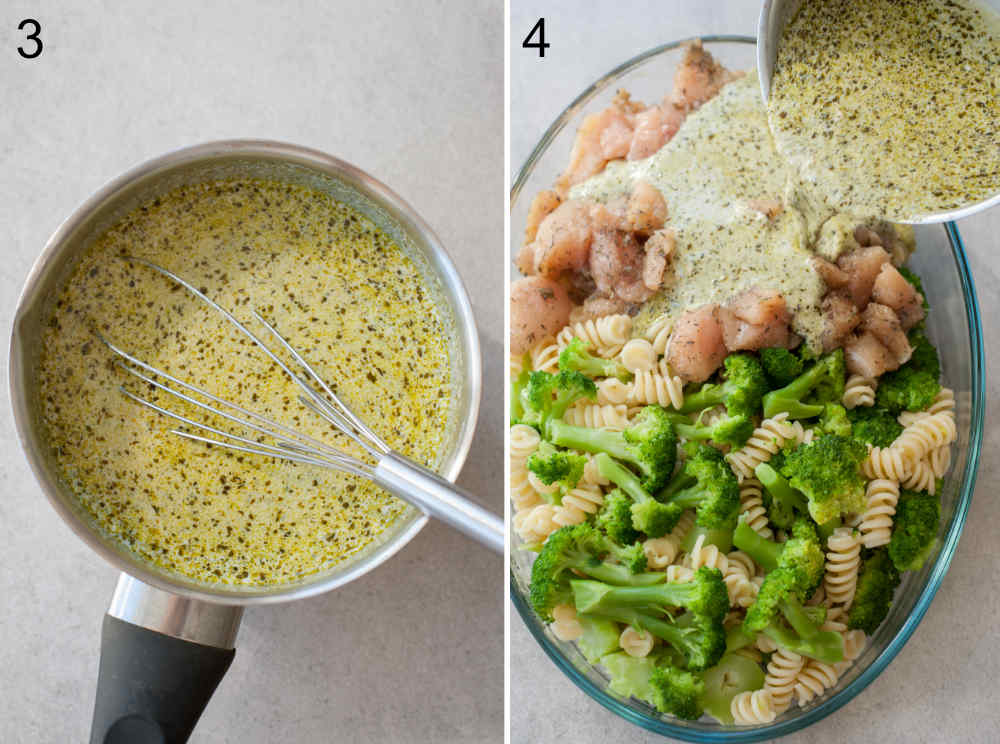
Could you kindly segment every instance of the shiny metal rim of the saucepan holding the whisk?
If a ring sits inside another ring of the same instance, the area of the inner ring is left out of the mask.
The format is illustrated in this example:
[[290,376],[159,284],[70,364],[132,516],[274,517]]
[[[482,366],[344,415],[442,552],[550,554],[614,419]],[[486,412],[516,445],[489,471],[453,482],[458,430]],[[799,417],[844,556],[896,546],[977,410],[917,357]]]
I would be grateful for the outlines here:
[[[27,370],[22,362],[21,346],[26,343],[19,332],[23,316],[28,312],[30,301],[37,294],[37,285],[45,275],[49,264],[56,261],[66,241],[91,214],[116,198],[129,186],[144,179],[162,177],[174,169],[187,165],[223,162],[230,159],[260,159],[297,165],[338,179],[356,189],[374,202],[393,212],[393,218],[411,229],[414,235],[427,246],[429,270],[444,285],[455,305],[454,322],[460,335],[460,345],[466,357],[465,386],[468,396],[468,410],[463,412],[464,420],[457,422],[454,447],[444,453],[442,476],[454,481],[461,472],[468,457],[479,419],[482,399],[482,358],[479,330],[472,303],[458,269],[445,249],[441,239],[424,221],[420,214],[395,191],[377,180],[361,168],[330,155],[302,145],[264,139],[227,139],[169,150],[161,155],[143,160],[121,174],[105,182],[89,197],[81,202],[56,228],[36,257],[22,285],[16,310],[11,324],[8,358],[8,392],[20,449],[35,476],[35,480],[45,497],[70,529],[91,549],[112,566],[130,576],[171,594],[189,599],[222,605],[258,605],[289,602],[312,597],[335,589],[368,573],[395,555],[412,540],[430,517],[419,509],[407,521],[393,523],[394,534],[362,548],[355,558],[348,556],[342,564],[332,568],[328,576],[306,578],[302,582],[288,582],[252,589],[211,585],[174,574],[144,561],[127,549],[118,549],[112,541],[100,534],[59,497],[56,474],[48,467],[41,453],[33,445],[35,440],[29,401],[23,394],[24,378]],[[408,224],[407,224],[408,223]],[[400,520],[406,520],[401,515]]]

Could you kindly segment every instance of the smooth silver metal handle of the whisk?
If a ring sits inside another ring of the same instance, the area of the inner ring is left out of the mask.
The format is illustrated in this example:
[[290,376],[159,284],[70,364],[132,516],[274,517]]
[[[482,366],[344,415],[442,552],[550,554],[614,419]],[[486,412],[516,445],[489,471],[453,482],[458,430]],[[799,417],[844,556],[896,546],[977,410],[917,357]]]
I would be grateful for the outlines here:
[[375,467],[375,482],[473,540],[503,553],[503,520],[437,473],[390,452]]

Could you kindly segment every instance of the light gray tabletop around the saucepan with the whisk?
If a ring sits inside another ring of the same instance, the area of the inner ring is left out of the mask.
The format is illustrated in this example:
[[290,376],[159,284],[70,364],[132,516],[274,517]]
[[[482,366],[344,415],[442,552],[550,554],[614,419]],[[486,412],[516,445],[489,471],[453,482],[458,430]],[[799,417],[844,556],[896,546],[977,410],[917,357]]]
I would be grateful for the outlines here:
[[[21,283],[79,202],[175,147],[295,142],[389,184],[450,250],[485,362],[460,483],[501,511],[502,3],[0,5],[4,398]],[[15,51],[25,17],[43,24],[34,61]],[[116,574],[44,501],[3,409],[0,741],[83,741]],[[347,587],[248,612],[192,741],[501,740],[501,563],[431,524]]]

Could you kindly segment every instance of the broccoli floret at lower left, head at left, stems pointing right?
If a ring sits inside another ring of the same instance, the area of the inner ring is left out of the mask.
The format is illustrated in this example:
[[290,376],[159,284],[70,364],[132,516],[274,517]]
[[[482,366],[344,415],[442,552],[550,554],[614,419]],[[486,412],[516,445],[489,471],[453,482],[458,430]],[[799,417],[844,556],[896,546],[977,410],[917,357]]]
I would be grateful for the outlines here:
[[625,586],[665,580],[663,573],[645,569],[642,545],[616,545],[587,523],[562,527],[545,541],[531,567],[531,604],[543,620],[551,620],[552,608],[572,599],[573,571]]

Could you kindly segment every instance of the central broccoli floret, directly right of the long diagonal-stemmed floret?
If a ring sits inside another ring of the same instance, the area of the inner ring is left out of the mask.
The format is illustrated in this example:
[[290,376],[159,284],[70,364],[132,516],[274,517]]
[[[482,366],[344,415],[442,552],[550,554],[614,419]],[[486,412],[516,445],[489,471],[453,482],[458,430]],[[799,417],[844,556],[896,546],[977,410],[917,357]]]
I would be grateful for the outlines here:
[[[713,447],[701,445],[659,494],[663,501],[683,509],[697,508],[696,528],[720,540],[729,550],[740,509],[740,487],[732,468]],[[713,544],[717,544],[714,543]]]

